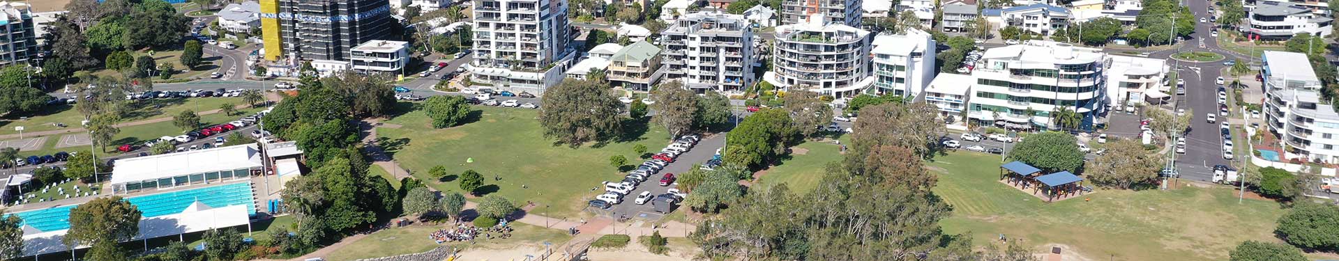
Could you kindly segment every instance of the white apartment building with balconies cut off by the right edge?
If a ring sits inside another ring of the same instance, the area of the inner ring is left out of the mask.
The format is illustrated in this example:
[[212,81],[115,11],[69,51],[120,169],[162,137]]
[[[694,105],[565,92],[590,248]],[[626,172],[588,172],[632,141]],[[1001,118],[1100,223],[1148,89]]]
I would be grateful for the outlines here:
[[1265,92],[1269,133],[1283,141],[1284,161],[1339,162],[1339,114],[1315,90],[1283,88]]

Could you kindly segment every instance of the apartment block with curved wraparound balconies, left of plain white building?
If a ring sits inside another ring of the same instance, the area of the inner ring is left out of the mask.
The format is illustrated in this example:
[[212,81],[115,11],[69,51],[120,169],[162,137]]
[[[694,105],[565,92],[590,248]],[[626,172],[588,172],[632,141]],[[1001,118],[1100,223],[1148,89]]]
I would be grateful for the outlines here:
[[829,23],[813,15],[807,23],[777,27],[773,71],[763,79],[773,86],[803,88],[833,98],[850,98],[873,84],[869,31]]

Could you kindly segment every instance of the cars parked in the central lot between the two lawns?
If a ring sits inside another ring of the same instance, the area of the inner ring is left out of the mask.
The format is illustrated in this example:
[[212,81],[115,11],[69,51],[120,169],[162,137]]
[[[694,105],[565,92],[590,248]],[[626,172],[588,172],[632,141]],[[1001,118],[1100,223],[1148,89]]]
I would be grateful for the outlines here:
[[[629,171],[623,181],[619,182],[604,182],[604,194],[597,195],[595,199],[589,201],[590,206],[597,209],[609,209],[613,205],[623,203],[625,195],[632,194],[637,189],[637,185],[645,182],[647,179],[655,178],[664,170],[665,166],[674,163],[679,155],[687,153],[696,146],[702,138],[698,135],[684,135],[665,146],[660,153],[651,155],[651,161],[643,162],[636,170]],[[664,173],[660,175],[660,186],[674,185],[676,177],[674,173]],[[652,195],[651,191],[641,191],[633,199],[637,205],[645,205],[651,201],[663,201],[667,203],[679,203],[683,201],[684,194],[679,189],[670,189],[667,193],[660,195]],[[656,207],[657,211],[668,211],[668,207]]]

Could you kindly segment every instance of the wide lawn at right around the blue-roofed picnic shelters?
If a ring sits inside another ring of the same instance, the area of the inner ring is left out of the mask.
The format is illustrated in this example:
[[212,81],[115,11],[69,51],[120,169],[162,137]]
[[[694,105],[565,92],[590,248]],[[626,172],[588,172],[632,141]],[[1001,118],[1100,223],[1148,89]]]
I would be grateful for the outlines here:
[[1063,244],[1087,258],[1227,260],[1241,241],[1277,241],[1272,232],[1284,213],[1272,201],[1237,203],[1228,187],[1186,183],[1044,203],[998,182],[996,162],[991,154],[951,153],[929,163],[940,174],[935,191],[953,205],[953,215],[940,222],[945,233],[971,233],[977,245],[998,244],[999,234],[1032,246]]

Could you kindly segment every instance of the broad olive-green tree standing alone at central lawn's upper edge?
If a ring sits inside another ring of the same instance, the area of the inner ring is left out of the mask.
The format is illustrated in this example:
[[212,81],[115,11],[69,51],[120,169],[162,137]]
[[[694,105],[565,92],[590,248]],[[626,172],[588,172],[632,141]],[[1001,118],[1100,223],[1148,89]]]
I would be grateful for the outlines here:
[[565,79],[545,91],[540,108],[544,137],[572,147],[608,142],[623,134],[623,103],[600,82]]

